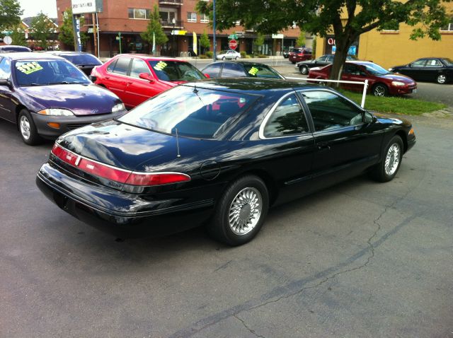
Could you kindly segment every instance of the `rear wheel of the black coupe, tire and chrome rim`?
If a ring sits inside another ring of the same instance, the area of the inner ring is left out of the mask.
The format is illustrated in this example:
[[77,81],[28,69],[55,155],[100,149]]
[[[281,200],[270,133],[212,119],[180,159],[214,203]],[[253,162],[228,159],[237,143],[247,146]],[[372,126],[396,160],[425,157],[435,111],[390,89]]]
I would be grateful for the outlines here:
[[263,180],[252,175],[241,177],[217,202],[207,230],[227,245],[245,244],[260,231],[268,208],[269,194]]

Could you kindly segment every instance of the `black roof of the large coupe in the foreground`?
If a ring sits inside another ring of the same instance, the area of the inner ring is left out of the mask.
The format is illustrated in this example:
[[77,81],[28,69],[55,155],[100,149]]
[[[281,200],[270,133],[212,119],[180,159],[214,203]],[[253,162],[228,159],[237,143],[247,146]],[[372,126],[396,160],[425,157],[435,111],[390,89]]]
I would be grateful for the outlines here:
[[[238,81],[240,80],[240,81]],[[321,88],[321,86],[297,81],[287,81],[277,78],[210,78],[203,81],[192,81],[183,83],[180,86],[191,86],[206,89],[217,89],[220,91],[231,91],[258,95],[269,95],[275,93],[289,93],[295,90]],[[324,88],[324,87],[322,87]]]

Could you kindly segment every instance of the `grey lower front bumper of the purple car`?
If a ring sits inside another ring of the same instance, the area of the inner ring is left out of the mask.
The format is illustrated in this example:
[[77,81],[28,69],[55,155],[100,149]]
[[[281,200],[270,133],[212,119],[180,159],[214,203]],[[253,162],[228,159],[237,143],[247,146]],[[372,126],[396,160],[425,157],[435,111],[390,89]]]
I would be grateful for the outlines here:
[[[35,122],[38,134],[46,139],[56,139],[58,136],[69,132],[73,129],[84,127],[91,123],[110,120],[120,117],[125,112],[115,112],[101,115],[88,116],[50,116],[33,113],[33,122]],[[48,123],[54,122],[59,124],[59,128],[50,127]]]

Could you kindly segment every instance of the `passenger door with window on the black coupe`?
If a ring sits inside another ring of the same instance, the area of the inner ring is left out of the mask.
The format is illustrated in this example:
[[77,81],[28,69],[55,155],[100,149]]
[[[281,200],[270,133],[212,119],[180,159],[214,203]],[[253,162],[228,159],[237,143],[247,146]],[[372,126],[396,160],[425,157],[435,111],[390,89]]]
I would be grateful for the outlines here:
[[299,95],[314,127],[314,185],[331,185],[379,162],[383,134],[372,115],[328,89]]

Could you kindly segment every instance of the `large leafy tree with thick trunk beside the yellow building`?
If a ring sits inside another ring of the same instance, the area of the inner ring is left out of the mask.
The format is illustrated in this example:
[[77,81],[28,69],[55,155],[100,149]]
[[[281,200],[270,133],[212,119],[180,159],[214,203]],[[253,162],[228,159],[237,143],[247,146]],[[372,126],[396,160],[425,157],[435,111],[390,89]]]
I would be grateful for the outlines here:
[[[414,27],[410,38],[440,40],[439,28],[447,24],[442,2],[451,0],[217,0],[217,28],[234,27],[272,34],[294,24],[306,32],[326,37],[333,31],[336,53],[331,78],[340,78],[348,49],[369,30],[389,29],[406,23]],[[197,11],[212,17],[212,2],[198,1]]]

